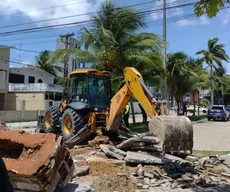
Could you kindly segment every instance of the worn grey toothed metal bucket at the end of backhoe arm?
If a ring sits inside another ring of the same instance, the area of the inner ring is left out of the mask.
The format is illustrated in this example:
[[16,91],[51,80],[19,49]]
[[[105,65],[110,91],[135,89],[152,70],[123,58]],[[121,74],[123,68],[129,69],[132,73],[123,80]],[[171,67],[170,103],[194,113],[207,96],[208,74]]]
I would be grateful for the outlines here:
[[155,116],[149,130],[161,140],[165,153],[190,155],[193,149],[193,126],[185,116]]

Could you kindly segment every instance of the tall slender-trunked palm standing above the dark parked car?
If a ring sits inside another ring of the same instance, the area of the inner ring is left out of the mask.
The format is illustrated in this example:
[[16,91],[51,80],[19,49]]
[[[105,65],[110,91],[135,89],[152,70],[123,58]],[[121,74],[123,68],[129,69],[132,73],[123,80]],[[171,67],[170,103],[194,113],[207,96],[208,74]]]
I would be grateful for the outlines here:
[[[198,51],[196,54],[202,54],[203,60],[208,64],[210,67],[210,80],[213,81],[213,67],[222,67],[222,60],[228,62],[229,57],[226,54],[224,44],[217,44],[219,38],[210,39],[208,41],[208,49]],[[211,105],[214,104],[214,90],[211,84]]]

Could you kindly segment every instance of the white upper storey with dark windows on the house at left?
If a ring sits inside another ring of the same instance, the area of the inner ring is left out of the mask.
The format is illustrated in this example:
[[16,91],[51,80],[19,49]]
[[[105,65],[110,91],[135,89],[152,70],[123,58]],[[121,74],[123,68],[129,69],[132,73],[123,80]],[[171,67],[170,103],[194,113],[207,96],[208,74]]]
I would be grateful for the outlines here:
[[39,67],[13,67],[9,70],[9,83],[54,83],[54,76]]

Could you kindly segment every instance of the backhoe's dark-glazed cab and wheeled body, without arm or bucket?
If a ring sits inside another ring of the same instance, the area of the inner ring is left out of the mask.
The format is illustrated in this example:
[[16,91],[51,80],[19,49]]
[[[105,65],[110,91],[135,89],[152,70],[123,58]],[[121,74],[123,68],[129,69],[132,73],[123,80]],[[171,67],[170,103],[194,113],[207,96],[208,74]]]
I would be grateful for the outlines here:
[[87,125],[92,132],[105,127],[112,97],[110,83],[110,73],[106,71],[71,72],[60,107],[52,106],[45,111],[37,132],[61,133],[69,140]]

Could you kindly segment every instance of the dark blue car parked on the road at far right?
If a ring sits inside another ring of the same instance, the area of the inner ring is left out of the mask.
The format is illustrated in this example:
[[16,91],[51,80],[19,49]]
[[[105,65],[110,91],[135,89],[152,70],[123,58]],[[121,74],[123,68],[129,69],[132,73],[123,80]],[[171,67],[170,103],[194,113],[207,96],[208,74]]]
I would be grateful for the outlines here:
[[208,110],[208,120],[221,119],[224,121],[229,121],[229,112],[225,109],[224,105],[213,105]]

